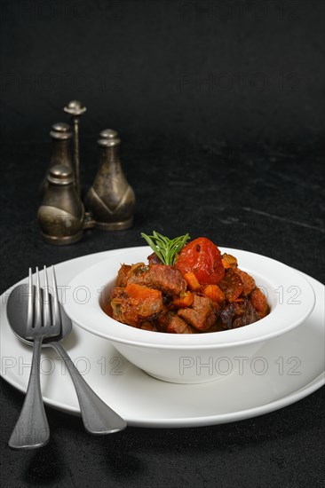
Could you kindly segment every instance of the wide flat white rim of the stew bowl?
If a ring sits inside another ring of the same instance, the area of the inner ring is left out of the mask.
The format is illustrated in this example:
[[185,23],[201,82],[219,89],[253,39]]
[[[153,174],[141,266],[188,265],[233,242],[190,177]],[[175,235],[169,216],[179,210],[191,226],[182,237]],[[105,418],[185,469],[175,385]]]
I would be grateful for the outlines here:
[[[271,297],[272,310],[264,319],[245,327],[194,335],[147,331],[112,319],[100,307],[99,293],[115,279],[121,264],[146,262],[147,256],[152,253],[152,249],[148,246],[107,251],[107,256],[103,257],[103,260],[91,264],[82,272],[77,273],[68,284],[69,292],[65,311],[77,326],[111,342],[147,348],[179,350],[223,349],[254,342],[264,342],[272,337],[289,332],[292,328],[302,324],[311,314],[315,303],[315,294],[311,284],[300,272],[273,258],[250,251],[224,247],[219,247],[219,249],[222,254],[228,253],[237,257],[239,268],[252,274],[257,281],[257,286],[266,285],[268,290],[273,293]],[[124,259],[121,261],[120,258],[123,256]],[[137,258],[132,259],[131,256],[137,256]],[[259,279],[264,281],[264,285],[258,283]],[[89,300],[86,303],[75,301],[74,292],[78,287],[88,288]],[[297,297],[301,297],[301,300],[299,302],[281,303],[277,298],[277,290],[284,290],[285,293],[290,288],[294,291],[295,288],[299,290],[300,293]],[[282,324],[283,319],[285,319],[284,325]]]

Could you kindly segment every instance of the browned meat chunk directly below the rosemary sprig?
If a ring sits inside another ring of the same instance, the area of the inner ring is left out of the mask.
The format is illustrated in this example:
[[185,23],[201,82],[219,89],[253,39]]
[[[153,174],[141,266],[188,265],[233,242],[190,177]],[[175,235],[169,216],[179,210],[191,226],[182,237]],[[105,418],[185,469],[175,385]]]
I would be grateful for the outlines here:
[[163,292],[164,295],[180,295],[186,291],[186,280],[178,270],[165,264],[152,264],[144,272],[134,273],[129,283],[138,283]]

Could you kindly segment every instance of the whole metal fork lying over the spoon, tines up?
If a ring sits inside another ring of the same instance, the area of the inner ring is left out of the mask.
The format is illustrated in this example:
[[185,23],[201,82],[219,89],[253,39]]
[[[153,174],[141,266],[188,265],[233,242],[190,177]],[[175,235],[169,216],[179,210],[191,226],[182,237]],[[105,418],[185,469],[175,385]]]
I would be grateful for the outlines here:
[[22,337],[33,341],[33,356],[28,390],[20,417],[12,431],[9,445],[13,449],[35,449],[48,443],[49,424],[46,419],[40,384],[40,358],[45,338],[59,335],[61,318],[54,269],[52,267],[52,299],[49,294],[48,278],[44,266],[44,288],[40,287],[36,268],[36,287],[33,286],[32,270],[28,275],[28,319],[26,333]]

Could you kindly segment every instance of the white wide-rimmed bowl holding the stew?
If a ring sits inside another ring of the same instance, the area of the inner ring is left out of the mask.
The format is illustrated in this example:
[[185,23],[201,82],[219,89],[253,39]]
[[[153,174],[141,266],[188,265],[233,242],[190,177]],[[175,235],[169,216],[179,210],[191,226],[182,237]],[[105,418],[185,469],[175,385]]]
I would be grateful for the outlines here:
[[271,307],[265,319],[249,326],[204,334],[166,334],[130,327],[107,316],[103,295],[115,285],[121,264],[147,263],[151,249],[124,248],[84,269],[69,283],[67,315],[80,327],[112,342],[131,363],[163,381],[216,380],[241,367],[272,337],[302,324],[313,311],[313,287],[297,271],[265,256],[232,248],[242,271],[250,273]]

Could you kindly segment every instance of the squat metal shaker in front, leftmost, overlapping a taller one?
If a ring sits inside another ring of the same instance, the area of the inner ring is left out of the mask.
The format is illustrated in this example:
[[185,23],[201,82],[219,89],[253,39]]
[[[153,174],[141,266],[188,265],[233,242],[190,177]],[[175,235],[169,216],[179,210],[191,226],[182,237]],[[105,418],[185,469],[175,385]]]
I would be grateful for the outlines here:
[[37,212],[45,242],[59,246],[83,237],[84,209],[76,193],[74,175],[67,165],[52,166],[47,188]]

